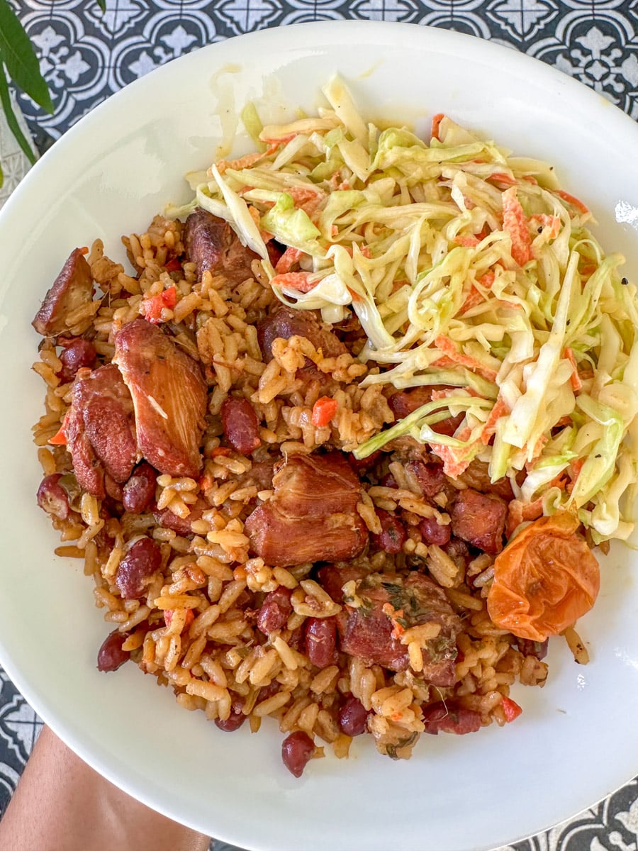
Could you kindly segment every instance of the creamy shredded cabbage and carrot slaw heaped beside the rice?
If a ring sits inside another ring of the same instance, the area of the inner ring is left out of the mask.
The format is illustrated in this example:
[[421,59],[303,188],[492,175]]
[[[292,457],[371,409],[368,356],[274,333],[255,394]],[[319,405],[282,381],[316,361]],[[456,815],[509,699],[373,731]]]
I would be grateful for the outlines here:
[[[363,120],[334,77],[313,117],[262,127],[261,155],[213,165],[194,202],[264,260],[278,297],[367,334],[364,385],[444,386],[356,449],[429,443],[448,475],[474,458],[593,540],[626,539],[638,479],[638,306],[547,163],[438,118],[430,140]],[[219,165],[219,164],[218,164]],[[278,274],[267,240],[296,249]],[[301,283],[299,283],[301,282]],[[463,415],[452,437],[433,426]]]

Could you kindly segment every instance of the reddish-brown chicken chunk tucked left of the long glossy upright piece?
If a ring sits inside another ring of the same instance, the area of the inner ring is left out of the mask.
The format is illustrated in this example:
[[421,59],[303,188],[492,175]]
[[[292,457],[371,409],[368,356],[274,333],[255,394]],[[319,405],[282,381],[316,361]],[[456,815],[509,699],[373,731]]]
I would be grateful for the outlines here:
[[105,497],[105,473],[126,482],[137,461],[133,399],[112,363],[78,369],[65,420],[66,445],[77,483]]

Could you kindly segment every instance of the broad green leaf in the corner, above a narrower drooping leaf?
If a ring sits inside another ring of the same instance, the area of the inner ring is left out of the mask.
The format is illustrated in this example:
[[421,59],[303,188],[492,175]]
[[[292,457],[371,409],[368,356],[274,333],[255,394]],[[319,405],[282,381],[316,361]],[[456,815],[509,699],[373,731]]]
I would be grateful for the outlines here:
[[40,73],[36,53],[7,0],[0,0],[0,53],[3,54],[4,64],[14,84],[42,106],[43,110],[53,113],[53,101]]

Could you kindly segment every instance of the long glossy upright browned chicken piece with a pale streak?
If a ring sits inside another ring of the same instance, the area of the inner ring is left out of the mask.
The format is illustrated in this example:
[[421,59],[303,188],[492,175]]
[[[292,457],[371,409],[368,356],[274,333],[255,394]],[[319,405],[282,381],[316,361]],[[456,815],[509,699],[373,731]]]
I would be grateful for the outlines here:
[[135,408],[140,453],[169,476],[197,477],[206,382],[196,361],[139,317],[115,335],[115,357]]

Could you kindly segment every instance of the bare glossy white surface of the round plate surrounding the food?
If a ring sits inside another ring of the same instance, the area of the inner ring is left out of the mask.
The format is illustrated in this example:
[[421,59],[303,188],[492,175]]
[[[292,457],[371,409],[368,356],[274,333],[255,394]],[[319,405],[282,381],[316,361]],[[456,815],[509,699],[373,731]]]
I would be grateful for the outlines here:
[[[334,71],[368,117],[413,121],[444,111],[518,153],[549,159],[595,210],[607,250],[638,249],[638,129],[568,77],[473,37],[410,25],[328,23],[234,38],[153,72],[56,142],[0,216],[0,658],[54,730],[115,784],[172,818],[247,848],[459,851],[511,842],[555,824],[638,771],[636,557],[603,563],[601,595],[581,621],[591,664],[561,642],[543,690],[520,688],[515,723],[455,737],[424,735],[409,762],[367,737],[349,761],[282,766],[274,722],[224,734],[179,709],[134,665],[105,676],[108,631],[77,562],[35,502],[30,426],[43,390],[29,372],[31,318],[71,248],[144,229],[182,174],[208,166],[232,101],[311,109]],[[222,128],[216,111],[225,116]]]

